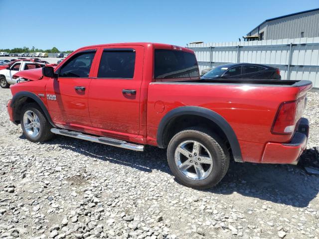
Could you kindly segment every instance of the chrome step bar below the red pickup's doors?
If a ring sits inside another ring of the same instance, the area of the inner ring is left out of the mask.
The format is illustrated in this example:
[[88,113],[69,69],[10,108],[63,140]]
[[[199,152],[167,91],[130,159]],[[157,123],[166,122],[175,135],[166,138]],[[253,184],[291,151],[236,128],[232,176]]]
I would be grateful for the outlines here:
[[126,141],[115,139],[115,138],[92,136],[92,135],[84,134],[81,132],[70,131],[67,129],[58,129],[58,128],[51,128],[51,132],[55,134],[60,134],[60,135],[69,136],[73,138],[79,138],[79,139],[83,139],[83,140],[87,140],[91,142],[107,144],[107,145],[111,145],[111,146],[115,146],[119,148],[126,148],[130,150],[135,150],[135,151],[144,151],[143,145],[128,143]]

